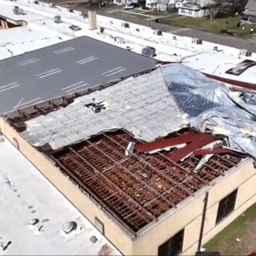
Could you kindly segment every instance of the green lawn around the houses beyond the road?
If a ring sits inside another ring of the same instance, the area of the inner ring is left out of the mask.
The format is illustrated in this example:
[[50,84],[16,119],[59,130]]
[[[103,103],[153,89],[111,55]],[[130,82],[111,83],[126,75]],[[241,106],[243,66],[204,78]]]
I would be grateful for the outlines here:
[[[256,32],[256,25],[241,25],[237,27],[237,23],[241,17],[232,17],[230,11],[220,11],[217,18],[211,20],[208,17],[192,18],[192,17],[165,17],[160,20],[161,23],[174,25],[177,27],[189,27],[191,29],[199,29],[211,33],[221,33],[221,29],[228,29],[229,31],[235,32],[239,37],[249,38],[251,37],[250,29]],[[242,29],[245,27],[245,30]]]

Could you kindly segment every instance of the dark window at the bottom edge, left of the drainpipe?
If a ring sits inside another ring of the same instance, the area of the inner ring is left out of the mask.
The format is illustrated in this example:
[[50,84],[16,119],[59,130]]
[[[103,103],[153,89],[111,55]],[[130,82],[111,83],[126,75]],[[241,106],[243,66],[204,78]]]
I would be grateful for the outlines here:
[[168,241],[158,247],[159,256],[174,256],[182,251],[184,229],[173,235]]

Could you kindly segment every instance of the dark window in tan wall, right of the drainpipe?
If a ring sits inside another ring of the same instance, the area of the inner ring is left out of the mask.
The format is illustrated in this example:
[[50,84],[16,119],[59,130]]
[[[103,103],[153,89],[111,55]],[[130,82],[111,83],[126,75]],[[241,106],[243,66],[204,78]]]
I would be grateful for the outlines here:
[[219,221],[224,219],[227,215],[229,215],[229,213],[231,213],[234,210],[236,198],[237,189],[219,202],[216,224],[219,223]]

